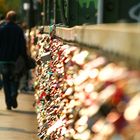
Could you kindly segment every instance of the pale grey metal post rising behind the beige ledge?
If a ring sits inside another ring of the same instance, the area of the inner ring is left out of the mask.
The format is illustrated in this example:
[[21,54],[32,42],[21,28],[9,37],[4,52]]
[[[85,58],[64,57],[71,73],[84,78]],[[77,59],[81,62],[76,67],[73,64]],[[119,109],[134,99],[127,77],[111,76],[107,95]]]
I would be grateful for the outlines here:
[[103,8],[104,8],[104,0],[98,1],[98,16],[97,16],[97,24],[103,23]]

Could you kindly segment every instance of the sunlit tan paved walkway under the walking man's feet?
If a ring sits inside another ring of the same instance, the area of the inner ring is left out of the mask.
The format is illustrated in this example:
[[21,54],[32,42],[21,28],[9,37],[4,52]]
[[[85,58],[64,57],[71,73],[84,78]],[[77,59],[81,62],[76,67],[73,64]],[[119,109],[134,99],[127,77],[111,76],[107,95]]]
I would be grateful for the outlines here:
[[33,102],[33,94],[20,93],[18,108],[8,111],[0,90],[0,140],[38,140]]

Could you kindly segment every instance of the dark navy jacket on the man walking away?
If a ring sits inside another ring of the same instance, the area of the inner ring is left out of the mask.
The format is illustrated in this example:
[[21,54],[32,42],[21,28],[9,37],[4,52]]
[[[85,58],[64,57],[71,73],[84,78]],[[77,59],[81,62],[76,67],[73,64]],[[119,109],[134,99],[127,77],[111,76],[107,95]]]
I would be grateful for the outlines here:
[[13,22],[0,27],[0,61],[16,61],[26,54],[26,40],[22,29]]

